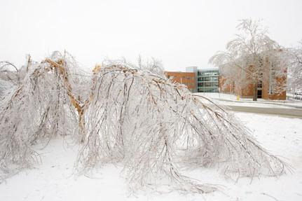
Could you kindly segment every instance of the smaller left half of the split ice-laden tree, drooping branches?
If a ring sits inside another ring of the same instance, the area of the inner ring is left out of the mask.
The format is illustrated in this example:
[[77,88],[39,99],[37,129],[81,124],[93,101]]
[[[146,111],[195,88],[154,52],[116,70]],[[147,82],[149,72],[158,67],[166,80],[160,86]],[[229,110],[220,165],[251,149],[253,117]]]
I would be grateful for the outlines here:
[[[78,128],[67,55],[54,53],[34,64],[22,84],[5,97],[0,111],[0,169],[30,167],[39,139],[72,134]],[[76,128],[76,130],[75,130]]]

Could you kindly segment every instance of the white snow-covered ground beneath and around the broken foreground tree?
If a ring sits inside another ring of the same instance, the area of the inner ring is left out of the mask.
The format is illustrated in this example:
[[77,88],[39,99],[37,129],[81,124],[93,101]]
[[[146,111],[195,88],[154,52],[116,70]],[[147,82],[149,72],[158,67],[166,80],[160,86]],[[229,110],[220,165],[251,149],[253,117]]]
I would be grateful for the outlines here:
[[107,165],[93,174],[76,176],[77,147],[68,139],[54,139],[42,150],[41,164],[0,184],[0,200],[302,200],[302,119],[235,113],[256,139],[271,153],[284,158],[294,172],[275,177],[260,176],[237,182],[217,169],[199,168],[186,175],[219,186],[208,194],[138,192],[129,195],[122,167]]

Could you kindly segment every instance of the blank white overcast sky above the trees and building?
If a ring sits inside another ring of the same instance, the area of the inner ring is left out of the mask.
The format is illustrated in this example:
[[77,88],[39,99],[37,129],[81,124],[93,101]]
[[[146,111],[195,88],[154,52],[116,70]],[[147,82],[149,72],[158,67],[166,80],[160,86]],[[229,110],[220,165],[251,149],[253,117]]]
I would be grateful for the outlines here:
[[0,60],[24,64],[67,50],[86,68],[112,59],[157,57],[166,70],[209,67],[242,18],[263,19],[282,46],[302,39],[302,1],[1,0]]

